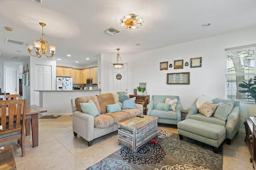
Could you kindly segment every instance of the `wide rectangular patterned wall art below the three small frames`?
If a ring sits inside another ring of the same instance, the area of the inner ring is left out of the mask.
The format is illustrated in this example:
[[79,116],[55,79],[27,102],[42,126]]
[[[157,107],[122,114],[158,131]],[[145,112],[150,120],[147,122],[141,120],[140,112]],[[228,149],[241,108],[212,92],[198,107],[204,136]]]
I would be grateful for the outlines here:
[[190,84],[190,72],[167,73],[167,84]]

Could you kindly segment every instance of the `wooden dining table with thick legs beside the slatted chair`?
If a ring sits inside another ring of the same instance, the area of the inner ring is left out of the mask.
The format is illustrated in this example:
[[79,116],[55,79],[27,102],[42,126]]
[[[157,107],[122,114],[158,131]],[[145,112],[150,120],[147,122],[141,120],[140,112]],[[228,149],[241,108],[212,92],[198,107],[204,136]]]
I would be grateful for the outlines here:
[[[0,108],[0,116],[1,112],[2,108]],[[44,112],[47,112],[47,110],[42,107],[36,105],[26,106],[26,136],[30,135],[31,125],[33,147],[38,147],[38,114]]]

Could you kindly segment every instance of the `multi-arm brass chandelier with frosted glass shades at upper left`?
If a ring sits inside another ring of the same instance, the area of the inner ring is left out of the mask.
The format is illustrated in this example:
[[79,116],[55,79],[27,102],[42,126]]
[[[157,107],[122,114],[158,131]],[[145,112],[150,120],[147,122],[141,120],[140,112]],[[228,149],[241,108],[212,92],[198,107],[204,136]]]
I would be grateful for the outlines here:
[[[46,24],[42,23],[42,22],[40,22],[39,24],[42,26],[42,34],[40,35],[40,39],[38,39],[34,42],[35,48],[36,48],[36,55],[31,54],[31,51],[32,51],[34,45],[26,44],[28,47],[29,54],[33,57],[38,57],[38,58],[40,58],[42,56],[42,54],[44,54],[44,55],[46,55],[46,57],[48,59],[51,59],[55,53],[56,46],[49,45],[48,41],[46,40],[46,36],[44,35],[44,26],[46,26]],[[46,49],[44,51],[45,47],[46,47]],[[51,54],[50,56],[47,55],[47,51],[48,51],[49,47],[50,47],[50,54]]]

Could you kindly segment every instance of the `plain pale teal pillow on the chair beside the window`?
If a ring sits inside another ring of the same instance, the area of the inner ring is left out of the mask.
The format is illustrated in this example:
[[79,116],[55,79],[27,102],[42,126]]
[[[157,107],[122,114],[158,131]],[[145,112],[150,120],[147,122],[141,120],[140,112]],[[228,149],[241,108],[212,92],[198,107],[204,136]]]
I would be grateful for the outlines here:
[[223,104],[222,102],[220,103],[221,104],[215,110],[213,117],[216,117],[222,121],[226,121],[228,119],[228,115],[233,109],[233,105],[231,102],[227,104]]

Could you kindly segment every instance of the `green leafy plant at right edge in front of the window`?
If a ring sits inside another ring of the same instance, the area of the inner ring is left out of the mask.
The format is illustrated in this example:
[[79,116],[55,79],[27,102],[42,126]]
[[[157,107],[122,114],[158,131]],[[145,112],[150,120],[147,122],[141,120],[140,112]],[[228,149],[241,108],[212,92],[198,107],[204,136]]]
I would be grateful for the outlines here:
[[[254,82],[252,83],[252,80]],[[256,103],[256,76],[254,76],[254,79],[250,78],[248,83],[244,82],[239,84],[238,86],[241,88],[245,88],[246,90],[238,90],[240,93],[247,93],[246,94],[246,99],[252,99]]]

